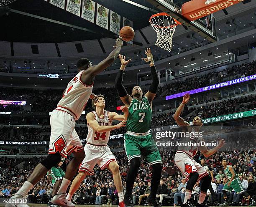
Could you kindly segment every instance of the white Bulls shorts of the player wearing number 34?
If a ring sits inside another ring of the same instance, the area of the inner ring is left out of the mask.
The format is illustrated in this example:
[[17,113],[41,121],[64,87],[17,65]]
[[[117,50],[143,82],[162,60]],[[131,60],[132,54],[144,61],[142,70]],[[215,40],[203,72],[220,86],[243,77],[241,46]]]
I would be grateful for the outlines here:
[[89,175],[94,174],[93,168],[96,164],[100,169],[108,167],[110,162],[116,162],[115,156],[108,145],[93,145],[88,142],[84,146],[85,158],[80,164],[79,172],[86,172]]

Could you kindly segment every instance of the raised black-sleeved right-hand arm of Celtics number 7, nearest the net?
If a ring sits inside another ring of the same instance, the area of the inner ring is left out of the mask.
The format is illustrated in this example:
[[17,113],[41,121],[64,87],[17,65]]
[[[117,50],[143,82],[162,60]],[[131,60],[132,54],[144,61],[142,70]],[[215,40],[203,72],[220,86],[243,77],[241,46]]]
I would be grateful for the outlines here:
[[147,48],[145,50],[146,58],[141,58],[143,61],[149,63],[149,66],[151,68],[151,78],[152,83],[150,85],[150,88],[148,89],[148,92],[145,94],[145,96],[148,98],[148,101],[152,108],[152,101],[156,96],[157,86],[159,85],[159,77],[157,75],[156,67],[153,60],[153,55],[151,53],[150,48]]

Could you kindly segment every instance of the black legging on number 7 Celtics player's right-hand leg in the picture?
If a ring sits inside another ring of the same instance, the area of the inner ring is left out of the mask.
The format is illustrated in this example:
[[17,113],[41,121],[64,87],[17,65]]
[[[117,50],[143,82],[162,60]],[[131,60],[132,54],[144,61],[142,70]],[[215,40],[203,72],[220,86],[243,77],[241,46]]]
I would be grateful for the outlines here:
[[153,168],[153,170],[152,170],[152,176],[151,176],[151,192],[149,197],[156,198],[156,192],[160,184],[161,172],[162,172],[163,166],[161,163],[156,163],[151,165],[151,167]]

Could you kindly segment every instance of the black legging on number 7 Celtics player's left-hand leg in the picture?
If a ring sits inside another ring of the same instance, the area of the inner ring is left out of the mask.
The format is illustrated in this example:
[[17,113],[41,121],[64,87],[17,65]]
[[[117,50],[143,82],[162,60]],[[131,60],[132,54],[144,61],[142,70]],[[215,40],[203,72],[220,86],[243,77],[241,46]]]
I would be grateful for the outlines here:
[[127,177],[126,177],[126,191],[125,191],[125,198],[130,198],[132,189],[133,189],[133,184],[136,180],[138,170],[141,165],[141,158],[140,157],[135,157],[131,159],[131,165],[129,168],[129,171],[127,172]]

